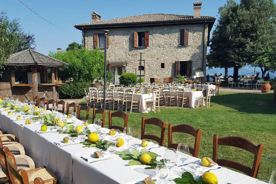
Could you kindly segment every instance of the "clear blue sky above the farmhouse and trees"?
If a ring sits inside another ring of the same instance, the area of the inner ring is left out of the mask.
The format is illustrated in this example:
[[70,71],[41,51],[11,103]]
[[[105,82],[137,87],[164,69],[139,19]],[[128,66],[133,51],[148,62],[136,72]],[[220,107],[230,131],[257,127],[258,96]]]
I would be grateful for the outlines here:
[[[0,0],[0,10],[7,10],[10,19],[20,18],[25,32],[35,35],[36,50],[48,54],[56,51],[58,47],[66,49],[68,44],[76,41],[81,43],[81,34],[61,30],[27,9],[18,0]],[[101,15],[101,20],[114,19],[117,16],[126,17],[139,14],[180,14],[193,15],[193,2],[195,0],[21,0],[38,14],[72,32],[81,32],[74,28],[75,24],[91,22],[91,13],[96,11]],[[237,1],[237,0],[236,0]],[[218,7],[225,4],[226,0],[202,0],[201,15],[214,16],[218,14]],[[239,2],[239,1],[237,1]],[[214,28],[214,27],[213,27]],[[218,70],[218,72],[223,70]],[[212,71],[207,71],[214,73]],[[217,72],[217,70],[216,70]]]

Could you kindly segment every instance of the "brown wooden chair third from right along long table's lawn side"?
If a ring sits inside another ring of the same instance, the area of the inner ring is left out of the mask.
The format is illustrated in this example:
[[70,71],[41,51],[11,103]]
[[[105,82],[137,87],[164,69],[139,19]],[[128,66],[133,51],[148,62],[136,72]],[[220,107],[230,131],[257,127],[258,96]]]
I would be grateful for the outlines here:
[[[145,124],[152,124],[152,125],[160,127],[161,128],[161,136],[157,137],[156,135],[145,134]],[[142,117],[141,139],[152,139],[152,140],[158,142],[160,146],[163,146],[164,140],[165,140],[165,131],[166,131],[167,124],[168,124],[167,122],[163,122],[159,118],[146,119],[145,116]]]

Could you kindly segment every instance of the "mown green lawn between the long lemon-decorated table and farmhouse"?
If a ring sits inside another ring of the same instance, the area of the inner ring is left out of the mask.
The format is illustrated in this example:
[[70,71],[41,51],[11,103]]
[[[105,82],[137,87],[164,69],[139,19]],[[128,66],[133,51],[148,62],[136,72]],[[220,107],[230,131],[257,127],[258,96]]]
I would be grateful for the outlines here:
[[[86,102],[83,102],[86,104]],[[160,107],[160,112],[148,114],[131,113],[128,126],[133,128],[134,137],[141,136],[141,118],[158,117],[173,125],[190,124],[202,129],[199,157],[212,158],[213,135],[220,137],[241,136],[254,144],[265,145],[258,179],[269,180],[272,170],[276,170],[276,103],[273,94],[220,93],[211,98],[210,108]],[[92,110],[89,114],[92,121]],[[116,119],[123,126],[123,121]],[[150,125],[149,125],[150,126]],[[160,128],[146,127],[146,133],[160,136]],[[108,127],[108,113],[105,127]],[[173,134],[173,142],[194,144],[194,139],[181,133]],[[164,146],[167,146],[167,134]],[[253,154],[234,147],[218,147],[218,158],[235,160],[252,167]]]

